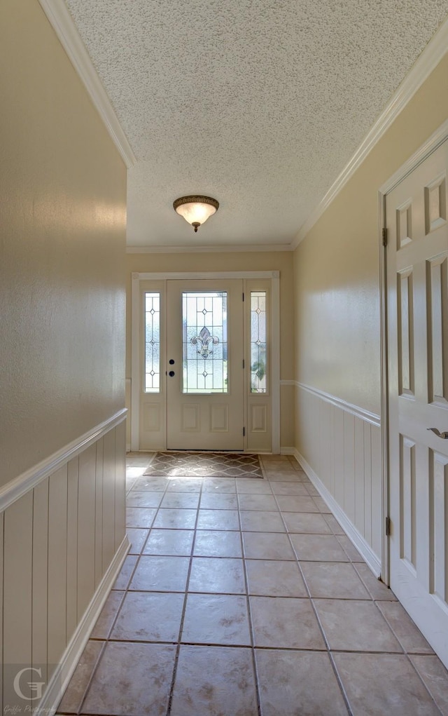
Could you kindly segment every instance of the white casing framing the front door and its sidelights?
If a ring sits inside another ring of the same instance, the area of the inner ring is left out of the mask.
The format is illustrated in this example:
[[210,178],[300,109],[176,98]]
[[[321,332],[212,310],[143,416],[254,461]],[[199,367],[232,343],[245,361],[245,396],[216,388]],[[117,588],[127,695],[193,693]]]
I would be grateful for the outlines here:
[[[136,349],[140,326],[140,281],[190,279],[270,279],[271,298],[271,384],[272,384],[272,453],[280,453],[280,272],[279,271],[172,271],[131,274],[131,450],[139,450],[141,356]],[[247,402],[245,402],[244,410]],[[246,423],[247,424],[247,423]]]

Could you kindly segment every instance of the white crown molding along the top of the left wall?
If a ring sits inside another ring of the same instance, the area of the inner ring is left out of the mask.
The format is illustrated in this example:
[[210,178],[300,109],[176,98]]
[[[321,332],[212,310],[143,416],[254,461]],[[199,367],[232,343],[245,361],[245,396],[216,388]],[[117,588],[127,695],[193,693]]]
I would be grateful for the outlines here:
[[39,3],[53,27],[54,32],[56,32],[59,42],[61,42],[62,47],[64,47],[71,64],[73,64],[74,69],[76,69],[81,81],[84,83],[84,87],[86,87],[87,92],[89,92],[91,100],[99,112],[104,125],[106,125],[106,129],[114,141],[121,158],[126,164],[126,167],[130,169],[136,163],[134,152],[120,125],[114,107],[111,105],[111,101],[91,62],[84,42],[81,40],[64,0],[39,0]]

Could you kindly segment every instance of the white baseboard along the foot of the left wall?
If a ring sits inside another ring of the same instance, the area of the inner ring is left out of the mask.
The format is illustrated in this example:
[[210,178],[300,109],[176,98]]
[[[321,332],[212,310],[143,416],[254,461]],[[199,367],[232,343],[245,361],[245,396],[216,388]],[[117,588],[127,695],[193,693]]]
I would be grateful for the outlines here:
[[126,558],[126,554],[130,548],[129,539],[127,536],[121,542],[118,550],[115,553],[114,559],[109,565],[109,569],[104,574],[103,579],[96,589],[94,596],[91,599],[89,606],[84,612],[84,616],[78,624],[78,628],[71,637],[68,647],[64,652],[64,656],[61,659],[60,664],[56,668],[53,676],[50,679],[44,696],[42,697],[41,703],[36,707],[36,711],[39,714],[47,714],[52,716],[56,713],[56,709],[64,695],[66,687],[76,669],[76,665],[79,662],[84,647],[89,640],[91,630],[94,628],[96,619],[98,619],[101,609],[104,606],[104,602],[109,596],[109,592],[114,584],[116,577],[119,574],[121,566]]

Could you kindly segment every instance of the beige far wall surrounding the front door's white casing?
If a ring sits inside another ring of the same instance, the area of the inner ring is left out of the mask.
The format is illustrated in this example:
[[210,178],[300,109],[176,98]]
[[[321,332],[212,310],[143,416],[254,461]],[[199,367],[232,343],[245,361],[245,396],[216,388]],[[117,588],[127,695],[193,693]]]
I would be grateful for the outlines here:
[[[189,231],[186,227],[186,231]],[[293,265],[289,251],[235,253],[129,253],[126,256],[126,377],[131,377],[131,273],[133,271],[280,271],[280,377],[294,377]],[[293,445],[292,387],[282,388],[281,444]]]

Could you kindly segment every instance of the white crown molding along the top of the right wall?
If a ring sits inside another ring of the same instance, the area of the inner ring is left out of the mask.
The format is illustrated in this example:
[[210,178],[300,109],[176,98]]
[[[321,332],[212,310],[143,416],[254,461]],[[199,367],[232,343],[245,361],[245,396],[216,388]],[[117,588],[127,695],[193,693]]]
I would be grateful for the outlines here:
[[447,54],[447,52],[448,19],[444,20],[432,39],[429,40],[422,54],[420,54],[416,62],[414,62],[412,69],[404,78],[402,84],[399,85],[397,92],[395,92],[392,96],[392,99],[389,101],[389,104],[386,106],[384,112],[379,115],[373,127],[369,130],[366,137],[364,137],[364,140],[349,160],[349,163],[344,167],[342,172],[324,195],[324,198],[322,198],[317,207],[307,218],[307,221],[305,221],[299,229],[294,241],[292,242],[293,250],[299,246],[301,241],[304,240],[309,230],[322,216],[324,211],[327,210],[334,198],[337,197],[339,192],[354,175],[359,166],[362,165],[365,158],[367,158],[367,155],[369,155],[384,133],[387,132],[389,127],[392,125],[392,122],[397,119],[398,115],[404,110],[404,107],[406,107],[408,102],[412,100],[412,97],[414,97],[417,89],[422,86],[425,79],[429,77],[429,74],[431,74],[434,67],[437,67],[437,64],[439,64],[440,60],[445,54]]

